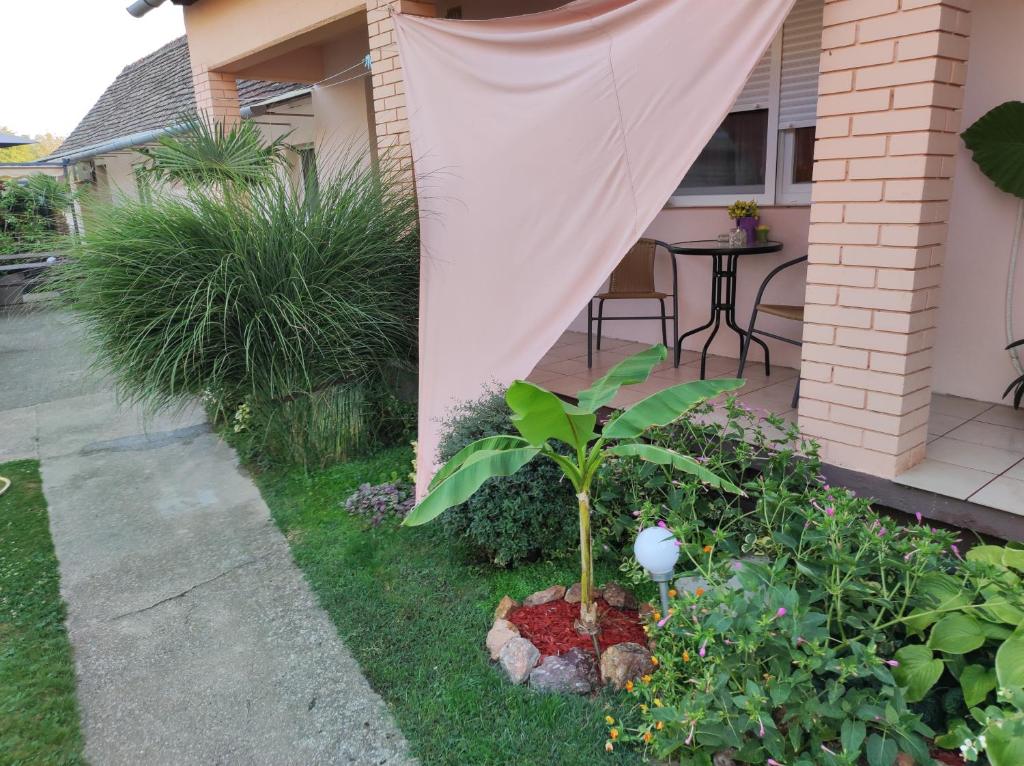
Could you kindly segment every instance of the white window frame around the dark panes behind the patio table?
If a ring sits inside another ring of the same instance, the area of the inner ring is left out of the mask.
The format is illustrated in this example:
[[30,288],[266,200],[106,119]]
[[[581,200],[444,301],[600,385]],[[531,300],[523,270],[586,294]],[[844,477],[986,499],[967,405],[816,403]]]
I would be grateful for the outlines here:
[[[673,195],[666,203],[666,208],[707,208],[722,207],[731,205],[736,201],[737,195],[741,198],[753,199],[761,207],[772,205],[810,205],[811,204],[811,183],[793,183],[788,181],[786,173],[780,173],[780,169],[792,166],[794,154],[794,133],[786,126],[782,130],[779,127],[779,101],[782,93],[782,30],[780,29],[772,39],[769,48],[770,77],[768,82],[768,134],[766,136],[766,157],[765,157],[765,189],[759,195],[750,197],[741,193],[727,195]],[[744,110],[732,110],[732,112],[749,112],[755,109],[764,109],[763,104]],[[731,112],[730,112],[731,114]]]

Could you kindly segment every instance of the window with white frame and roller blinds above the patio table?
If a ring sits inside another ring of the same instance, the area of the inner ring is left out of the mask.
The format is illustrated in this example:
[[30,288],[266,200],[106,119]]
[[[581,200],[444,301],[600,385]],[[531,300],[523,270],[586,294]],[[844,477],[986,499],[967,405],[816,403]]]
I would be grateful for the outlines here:
[[797,0],[671,204],[810,202],[823,6]]

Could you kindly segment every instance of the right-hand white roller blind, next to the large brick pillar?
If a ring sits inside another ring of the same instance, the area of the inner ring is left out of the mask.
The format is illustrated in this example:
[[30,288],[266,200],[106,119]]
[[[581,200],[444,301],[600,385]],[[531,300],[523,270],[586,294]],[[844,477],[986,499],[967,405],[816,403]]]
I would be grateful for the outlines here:
[[782,130],[810,127],[815,123],[823,8],[823,0],[797,0],[782,26],[778,107],[778,126]]

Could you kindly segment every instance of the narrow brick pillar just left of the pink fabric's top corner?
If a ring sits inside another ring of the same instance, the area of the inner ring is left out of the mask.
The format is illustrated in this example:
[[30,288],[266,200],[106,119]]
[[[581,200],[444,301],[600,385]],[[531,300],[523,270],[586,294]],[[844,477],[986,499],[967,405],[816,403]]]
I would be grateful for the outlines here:
[[370,55],[373,59],[374,125],[377,156],[397,162],[412,172],[413,152],[406,117],[406,81],[398,61],[391,8],[417,16],[435,16],[432,2],[416,0],[367,0]]

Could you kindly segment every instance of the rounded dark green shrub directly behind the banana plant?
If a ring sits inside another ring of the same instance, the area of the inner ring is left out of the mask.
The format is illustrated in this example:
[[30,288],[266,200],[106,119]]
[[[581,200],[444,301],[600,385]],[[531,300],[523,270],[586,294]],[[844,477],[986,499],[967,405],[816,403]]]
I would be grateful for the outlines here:
[[[503,391],[458,406],[444,423],[438,459],[446,462],[477,439],[512,432],[511,415]],[[572,487],[550,461],[488,479],[440,518],[449,534],[500,566],[574,554],[580,545]]]

